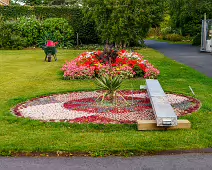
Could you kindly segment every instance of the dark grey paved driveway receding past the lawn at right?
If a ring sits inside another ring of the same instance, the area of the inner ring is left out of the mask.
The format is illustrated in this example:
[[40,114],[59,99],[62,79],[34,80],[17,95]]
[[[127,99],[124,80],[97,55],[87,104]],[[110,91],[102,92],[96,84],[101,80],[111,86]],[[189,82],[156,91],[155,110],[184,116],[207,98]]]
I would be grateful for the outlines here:
[[212,77],[212,54],[199,52],[199,47],[186,44],[169,44],[154,40],[146,40],[145,44],[173,60]]

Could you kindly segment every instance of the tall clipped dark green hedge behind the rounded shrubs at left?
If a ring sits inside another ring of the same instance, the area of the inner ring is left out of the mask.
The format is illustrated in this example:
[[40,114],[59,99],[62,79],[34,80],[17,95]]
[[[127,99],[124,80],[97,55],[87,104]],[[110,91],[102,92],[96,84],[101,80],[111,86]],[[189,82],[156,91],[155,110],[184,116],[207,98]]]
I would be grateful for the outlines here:
[[99,42],[94,21],[84,16],[82,9],[77,6],[0,6],[0,13],[4,20],[17,20],[22,16],[33,15],[41,21],[47,18],[64,18],[73,28],[74,44],[77,43],[77,33],[79,44]]

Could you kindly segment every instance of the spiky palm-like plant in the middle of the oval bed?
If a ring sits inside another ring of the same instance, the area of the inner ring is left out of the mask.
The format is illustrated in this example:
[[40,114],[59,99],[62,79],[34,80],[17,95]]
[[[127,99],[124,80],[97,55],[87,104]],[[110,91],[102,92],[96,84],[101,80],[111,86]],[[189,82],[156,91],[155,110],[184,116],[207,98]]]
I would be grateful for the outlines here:
[[[106,96],[109,96],[111,103],[116,103],[116,92],[121,86],[122,78],[120,76],[101,76],[96,78],[96,84],[101,90],[106,90],[106,92],[102,95],[102,102],[104,101]],[[97,99],[99,99],[99,96]]]

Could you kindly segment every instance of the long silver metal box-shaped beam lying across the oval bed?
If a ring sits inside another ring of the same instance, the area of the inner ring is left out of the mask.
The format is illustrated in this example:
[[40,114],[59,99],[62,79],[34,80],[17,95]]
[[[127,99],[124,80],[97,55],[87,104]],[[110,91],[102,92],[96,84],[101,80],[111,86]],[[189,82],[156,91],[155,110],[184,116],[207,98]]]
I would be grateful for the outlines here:
[[156,117],[157,126],[177,126],[177,115],[158,80],[146,79],[146,89]]

